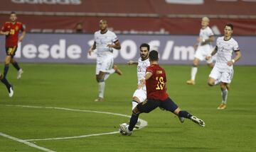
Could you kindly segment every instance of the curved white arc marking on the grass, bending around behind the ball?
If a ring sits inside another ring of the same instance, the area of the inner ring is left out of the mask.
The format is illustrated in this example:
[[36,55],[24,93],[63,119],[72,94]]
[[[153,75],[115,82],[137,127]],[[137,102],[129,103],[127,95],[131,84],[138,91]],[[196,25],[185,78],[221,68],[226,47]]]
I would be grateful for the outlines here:
[[[10,107],[28,107],[28,108],[45,108],[45,109],[53,109],[53,110],[67,110],[67,111],[75,111],[75,112],[94,112],[94,113],[100,113],[100,114],[107,114],[107,115],[117,115],[122,117],[130,117],[129,115],[123,115],[119,113],[113,113],[113,112],[100,112],[100,111],[94,111],[94,110],[77,110],[77,109],[70,109],[65,107],[41,107],[41,106],[31,106],[31,105],[5,105]],[[144,119],[139,119],[141,124],[139,125],[139,129],[142,129],[143,127],[147,126],[147,122]],[[81,136],[65,136],[65,137],[57,137],[57,138],[48,138],[48,139],[26,139],[24,141],[48,141],[48,140],[62,140],[62,139],[78,139],[78,138],[85,138],[88,136],[102,136],[106,134],[117,134],[119,131],[112,131],[112,132],[106,132],[106,133],[100,133],[100,134],[85,134]]]

